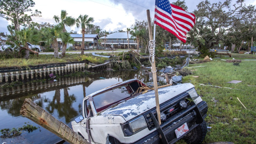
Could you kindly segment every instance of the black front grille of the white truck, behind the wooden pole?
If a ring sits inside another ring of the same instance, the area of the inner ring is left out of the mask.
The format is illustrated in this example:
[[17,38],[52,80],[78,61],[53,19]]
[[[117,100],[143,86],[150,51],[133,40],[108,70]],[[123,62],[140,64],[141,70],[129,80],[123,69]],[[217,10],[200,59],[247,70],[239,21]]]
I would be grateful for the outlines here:
[[[168,121],[173,116],[178,115],[183,110],[186,110],[191,105],[195,105],[195,103],[193,101],[191,101],[189,98],[190,98],[189,94],[185,92],[185,93],[182,93],[182,94],[178,95],[177,97],[175,97],[175,98],[173,98],[173,99],[171,99],[169,101],[166,101],[166,102],[162,103],[160,105],[160,111],[161,111],[161,113],[164,113],[166,115],[166,119],[164,121],[161,121],[162,124],[164,124],[166,121]],[[179,102],[181,100],[185,100],[186,101],[186,103],[188,105],[186,108],[180,107]],[[149,130],[152,130],[152,129],[155,128],[155,124],[154,124],[154,122],[153,122],[153,120],[152,120],[152,118],[150,116],[151,112],[153,112],[154,116],[157,119],[156,109],[155,108],[151,109],[151,110],[147,111],[145,114],[143,114],[143,116],[145,117],[146,122],[148,124],[148,129]],[[184,116],[186,116],[186,115],[184,115]]]

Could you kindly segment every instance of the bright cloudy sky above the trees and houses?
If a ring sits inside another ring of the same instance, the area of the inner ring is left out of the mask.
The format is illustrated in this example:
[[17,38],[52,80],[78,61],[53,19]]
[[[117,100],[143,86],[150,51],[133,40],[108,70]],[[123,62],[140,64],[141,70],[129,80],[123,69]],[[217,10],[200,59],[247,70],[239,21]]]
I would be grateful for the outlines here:
[[[209,0],[215,3],[216,0]],[[225,0],[219,0],[223,2]],[[34,0],[32,10],[42,12],[42,17],[33,17],[34,22],[57,24],[53,20],[54,15],[60,16],[61,10],[66,10],[68,16],[77,18],[80,14],[87,14],[94,18],[93,25],[100,26],[102,30],[117,31],[131,28],[135,20],[147,21],[147,10],[150,10],[151,18],[154,18],[155,0]],[[171,1],[170,3],[175,2]],[[188,12],[196,10],[200,0],[185,0]],[[235,3],[235,0],[232,1]],[[256,0],[245,0],[245,4],[256,5]],[[0,32],[9,34],[7,25],[10,21],[0,17]],[[68,31],[74,30],[81,34],[81,28],[67,27]]]

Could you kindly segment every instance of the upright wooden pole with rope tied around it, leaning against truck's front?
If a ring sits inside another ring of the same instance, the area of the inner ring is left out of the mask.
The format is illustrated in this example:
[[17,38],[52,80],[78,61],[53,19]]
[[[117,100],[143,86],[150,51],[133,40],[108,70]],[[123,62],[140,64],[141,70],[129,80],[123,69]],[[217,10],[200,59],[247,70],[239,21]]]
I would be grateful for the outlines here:
[[[149,41],[155,41],[155,30],[156,25],[154,25],[154,38],[152,37],[152,30],[151,30],[151,20],[150,20],[150,11],[147,10],[147,17],[148,17],[148,31],[149,31]],[[150,51],[149,51],[150,52]],[[151,54],[150,54],[151,56]],[[154,83],[154,90],[155,90],[155,98],[156,98],[156,114],[159,125],[161,125],[161,118],[160,118],[160,106],[159,106],[159,98],[158,98],[158,88],[157,88],[157,77],[156,77],[156,61],[155,55],[151,58],[151,71],[153,75],[153,83]]]

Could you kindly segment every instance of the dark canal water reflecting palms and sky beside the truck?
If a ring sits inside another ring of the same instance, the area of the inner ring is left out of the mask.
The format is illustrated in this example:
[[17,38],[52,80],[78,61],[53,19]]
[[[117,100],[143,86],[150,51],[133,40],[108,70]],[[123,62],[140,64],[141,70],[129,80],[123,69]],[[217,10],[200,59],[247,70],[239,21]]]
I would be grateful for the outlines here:
[[[39,126],[30,119],[20,116],[20,109],[25,98],[32,99],[59,121],[71,127],[71,121],[82,115],[82,100],[86,95],[131,78],[142,79],[143,82],[151,81],[147,71],[104,71],[86,77],[56,79],[59,84],[51,81],[50,86],[46,88],[38,83],[31,83],[4,90],[5,92],[12,90],[20,92],[0,97],[0,130],[13,127],[18,129],[25,123]],[[22,89],[29,89],[29,91],[22,91]],[[55,143],[60,140],[55,134],[39,126],[36,131],[24,132],[15,138],[0,138],[0,143]]]

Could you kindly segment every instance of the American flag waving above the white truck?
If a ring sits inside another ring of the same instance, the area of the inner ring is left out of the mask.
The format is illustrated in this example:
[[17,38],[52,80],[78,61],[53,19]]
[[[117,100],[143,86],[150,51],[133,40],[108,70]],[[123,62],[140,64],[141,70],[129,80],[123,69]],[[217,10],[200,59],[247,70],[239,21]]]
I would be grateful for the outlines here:
[[154,23],[178,37],[183,43],[186,43],[186,34],[195,22],[195,14],[170,4],[169,0],[156,0]]

